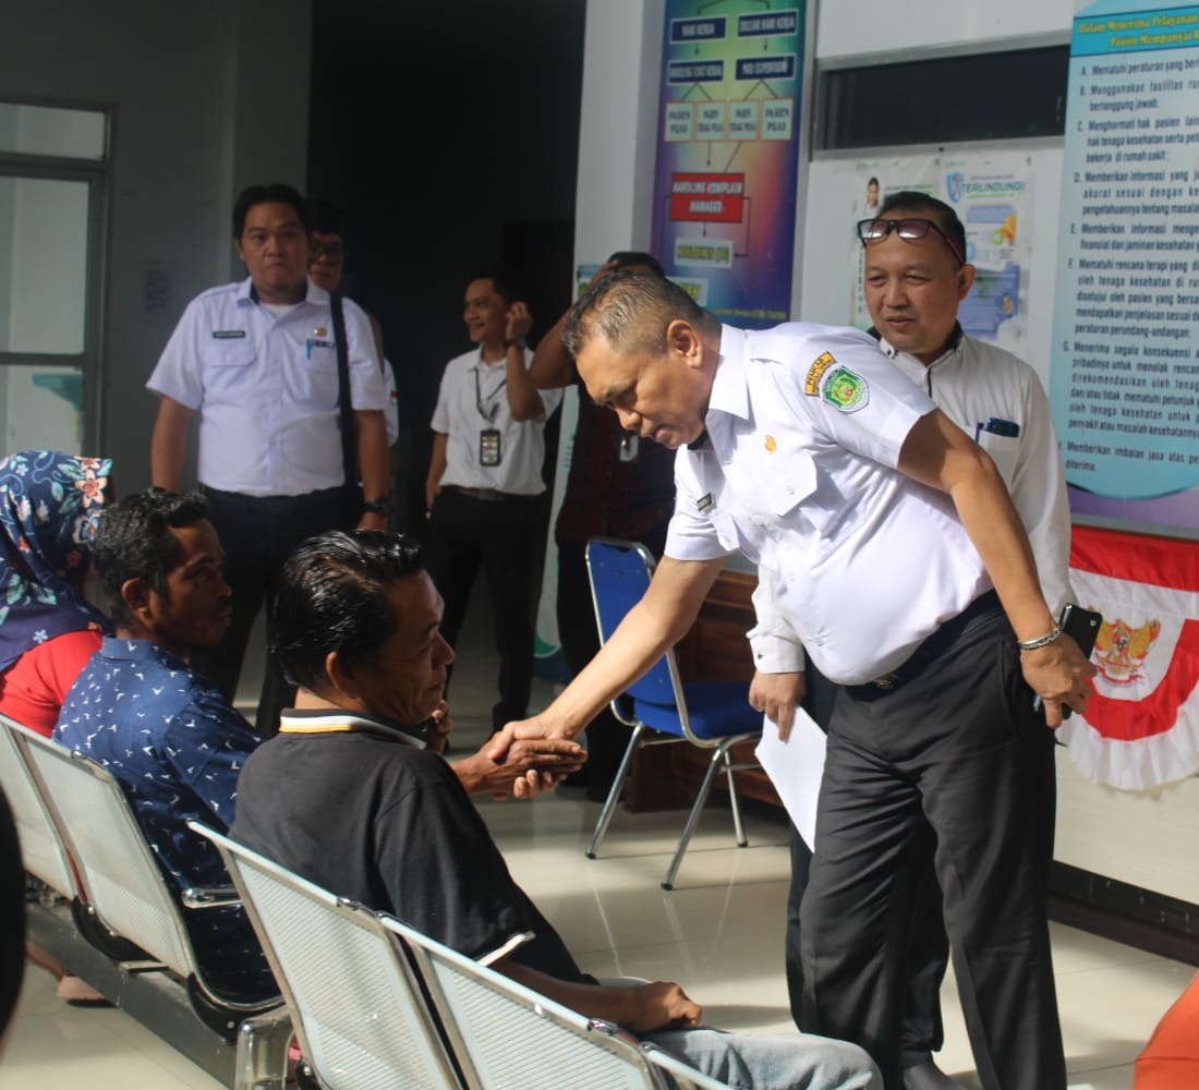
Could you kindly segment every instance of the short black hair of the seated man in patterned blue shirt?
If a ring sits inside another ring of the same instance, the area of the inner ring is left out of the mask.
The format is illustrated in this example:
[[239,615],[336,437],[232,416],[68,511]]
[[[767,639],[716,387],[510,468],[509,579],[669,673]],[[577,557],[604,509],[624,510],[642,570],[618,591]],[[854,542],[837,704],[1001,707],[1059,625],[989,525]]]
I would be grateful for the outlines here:
[[165,488],[134,492],[104,508],[96,526],[92,560],[118,625],[133,624],[121,586],[140,579],[165,594],[167,572],[180,552],[179,538],[170,531],[194,526],[207,514],[207,504],[198,492]]

